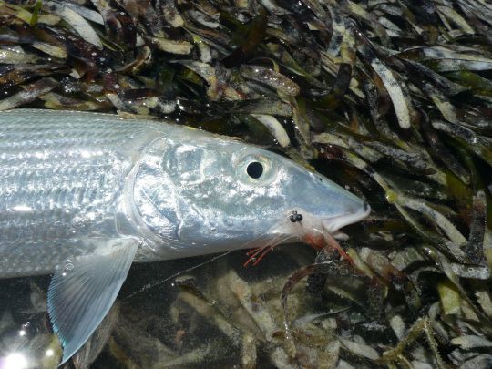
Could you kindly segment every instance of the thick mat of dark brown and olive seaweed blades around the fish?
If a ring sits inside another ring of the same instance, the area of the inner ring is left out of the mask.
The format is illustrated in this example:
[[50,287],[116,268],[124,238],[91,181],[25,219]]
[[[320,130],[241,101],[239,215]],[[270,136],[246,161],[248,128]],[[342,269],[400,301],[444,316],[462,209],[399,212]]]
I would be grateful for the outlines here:
[[[0,0],[0,109],[110,111],[240,136],[371,204],[344,244],[365,284],[314,273],[316,313],[343,306],[336,320],[246,343],[224,328],[233,314],[212,314],[232,344],[281,366],[320,366],[324,351],[332,366],[483,364],[484,342],[466,337],[492,337],[491,19],[485,0]],[[257,302],[244,303],[252,315]]]

